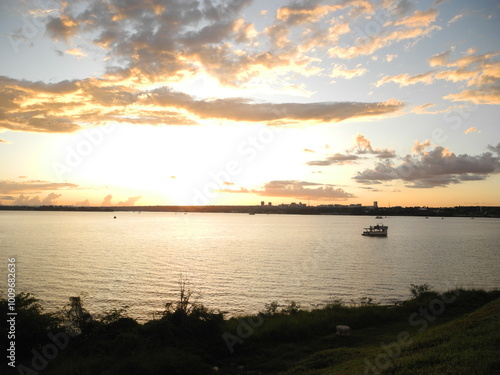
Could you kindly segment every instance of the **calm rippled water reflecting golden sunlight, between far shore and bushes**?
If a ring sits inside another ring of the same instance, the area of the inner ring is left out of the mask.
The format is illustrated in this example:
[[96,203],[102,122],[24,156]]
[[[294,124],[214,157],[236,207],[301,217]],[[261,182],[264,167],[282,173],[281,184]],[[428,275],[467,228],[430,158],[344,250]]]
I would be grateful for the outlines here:
[[[381,221],[387,238],[361,236]],[[4,270],[17,260],[18,291],[49,310],[84,292],[91,312],[129,305],[147,319],[183,275],[233,315],[271,301],[390,303],[412,283],[500,288],[499,229],[484,218],[0,211],[0,254]]]

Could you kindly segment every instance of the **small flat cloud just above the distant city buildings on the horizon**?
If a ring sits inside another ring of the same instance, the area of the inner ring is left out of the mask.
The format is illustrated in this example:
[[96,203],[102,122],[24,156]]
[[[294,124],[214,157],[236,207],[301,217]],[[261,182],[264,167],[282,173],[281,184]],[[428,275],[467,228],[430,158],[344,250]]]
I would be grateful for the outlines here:
[[342,188],[335,188],[333,185],[323,185],[314,182],[284,180],[271,181],[264,185],[262,190],[220,190],[226,193],[257,194],[265,197],[282,197],[311,200],[346,200],[354,198],[351,193]]

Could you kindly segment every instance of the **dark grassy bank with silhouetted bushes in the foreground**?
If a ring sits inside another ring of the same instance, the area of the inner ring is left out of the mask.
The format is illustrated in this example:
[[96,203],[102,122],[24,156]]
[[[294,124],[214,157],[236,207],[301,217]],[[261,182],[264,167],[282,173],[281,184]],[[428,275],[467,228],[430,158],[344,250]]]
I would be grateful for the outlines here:
[[[423,284],[410,294],[397,306],[364,298],[306,311],[271,302],[259,315],[225,318],[193,301],[181,282],[179,299],[143,324],[126,307],[93,315],[80,297],[48,314],[20,294],[16,364],[23,367],[12,373],[500,374],[500,291],[438,293]],[[0,299],[4,317],[7,307]],[[350,336],[336,334],[339,324]]]

